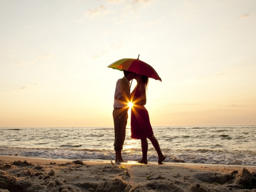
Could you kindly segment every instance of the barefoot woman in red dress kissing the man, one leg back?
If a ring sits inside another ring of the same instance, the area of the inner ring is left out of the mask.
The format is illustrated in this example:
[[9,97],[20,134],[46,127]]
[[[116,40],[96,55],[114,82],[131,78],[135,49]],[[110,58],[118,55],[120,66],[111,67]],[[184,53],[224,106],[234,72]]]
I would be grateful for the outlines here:
[[146,89],[148,85],[148,77],[136,74],[135,80],[137,81],[137,85],[131,94],[133,102],[131,111],[131,138],[141,140],[142,160],[138,161],[138,163],[148,163],[148,138],[156,149],[158,154],[158,163],[162,164],[162,161],[165,160],[165,156],[162,154],[158,141],[154,137],[148,111],[144,106],[147,102]]

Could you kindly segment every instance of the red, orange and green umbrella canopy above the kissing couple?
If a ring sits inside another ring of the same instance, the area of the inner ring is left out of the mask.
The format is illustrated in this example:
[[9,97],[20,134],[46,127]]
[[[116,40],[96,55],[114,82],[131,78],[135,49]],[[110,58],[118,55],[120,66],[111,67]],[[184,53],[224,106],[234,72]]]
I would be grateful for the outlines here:
[[[139,55],[140,56],[140,55]],[[150,66],[149,64],[138,59],[120,59],[111,65],[108,66],[109,68],[117,69],[117,70],[126,70],[130,72],[134,72],[140,75],[146,75],[149,78],[153,78],[155,80],[162,79],[158,76],[157,72]]]

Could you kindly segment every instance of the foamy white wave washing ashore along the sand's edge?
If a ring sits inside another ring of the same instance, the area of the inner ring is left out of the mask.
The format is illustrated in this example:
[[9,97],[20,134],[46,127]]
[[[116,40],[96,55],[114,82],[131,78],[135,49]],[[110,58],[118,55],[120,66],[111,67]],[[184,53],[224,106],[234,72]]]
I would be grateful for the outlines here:
[[[34,158],[58,158],[63,160],[114,160],[114,150],[68,149],[68,148],[0,148],[0,155],[16,155]],[[224,150],[164,150],[165,162],[205,163],[205,164],[232,164],[256,165],[253,158],[256,152],[252,151],[224,151]],[[136,148],[122,151],[126,160],[138,161],[142,158],[141,150]],[[157,162],[155,151],[148,152],[148,161]]]

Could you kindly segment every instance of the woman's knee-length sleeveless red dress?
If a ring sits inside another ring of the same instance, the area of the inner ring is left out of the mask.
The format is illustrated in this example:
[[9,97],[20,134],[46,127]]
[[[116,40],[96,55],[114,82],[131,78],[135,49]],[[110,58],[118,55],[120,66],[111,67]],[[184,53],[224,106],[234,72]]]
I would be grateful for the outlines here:
[[[132,91],[132,98],[137,97],[140,99],[140,91],[137,86]],[[152,126],[150,125],[148,111],[144,105],[134,104],[131,111],[131,138],[142,139],[154,135]]]

